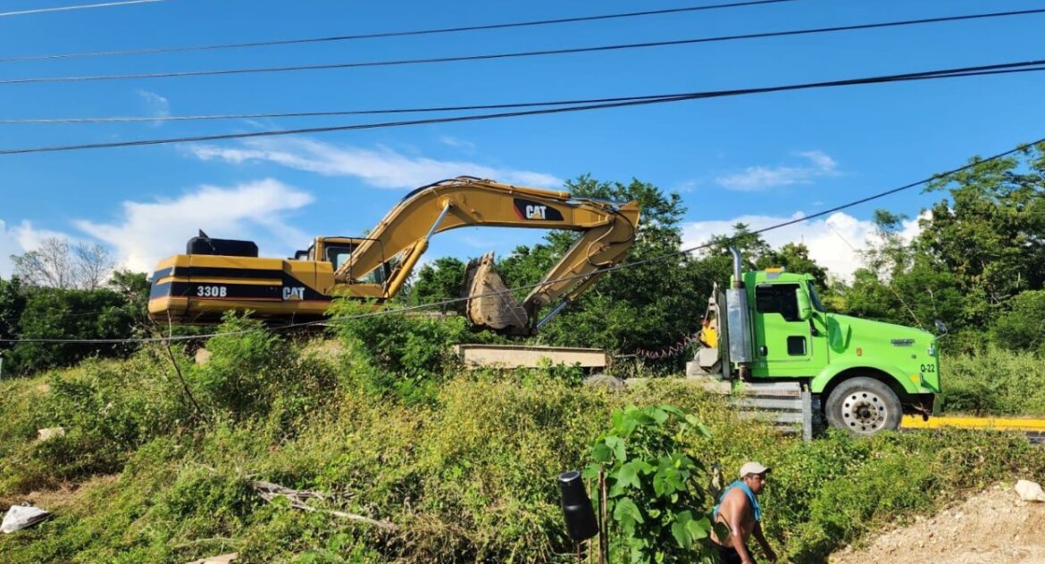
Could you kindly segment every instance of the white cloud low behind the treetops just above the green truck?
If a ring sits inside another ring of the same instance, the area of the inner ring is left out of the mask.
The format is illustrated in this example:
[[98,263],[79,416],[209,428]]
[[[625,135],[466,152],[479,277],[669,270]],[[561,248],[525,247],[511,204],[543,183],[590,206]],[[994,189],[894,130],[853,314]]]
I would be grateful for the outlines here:
[[[742,215],[722,221],[695,221],[683,229],[682,248],[705,243],[713,235],[732,234],[733,226],[738,222],[746,224],[751,230],[759,230],[805,215],[795,212],[791,217]],[[909,219],[903,222],[901,236],[909,241],[920,231],[918,219]],[[843,280],[852,280],[853,273],[862,266],[859,252],[867,250],[869,244],[880,242],[875,235],[873,221],[857,219],[842,212],[767,231],[762,237],[773,249],[780,249],[789,242],[805,243],[809,248],[810,258]]]

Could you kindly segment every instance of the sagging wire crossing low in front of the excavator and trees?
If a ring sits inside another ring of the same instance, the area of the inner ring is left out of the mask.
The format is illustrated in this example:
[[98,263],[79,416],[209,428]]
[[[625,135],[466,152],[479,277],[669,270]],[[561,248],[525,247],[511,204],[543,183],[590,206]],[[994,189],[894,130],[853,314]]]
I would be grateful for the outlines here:
[[[788,226],[792,226],[794,224],[799,224],[802,221],[808,221],[810,219],[815,219],[817,217],[822,217],[825,215],[829,215],[829,214],[835,213],[837,211],[841,211],[841,210],[844,210],[844,209],[853,208],[853,207],[859,206],[861,204],[866,204],[868,202],[873,202],[873,201],[876,201],[876,199],[881,199],[883,197],[886,197],[886,196],[889,196],[889,195],[892,195],[892,194],[896,194],[896,193],[899,193],[899,192],[903,192],[905,190],[910,190],[911,188],[915,188],[918,186],[922,186],[924,184],[928,184],[928,183],[933,182],[933,181],[946,179],[946,178],[954,175],[954,174],[956,174],[958,172],[962,172],[965,170],[969,170],[970,168],[973,168],[973,167],[976,167],[976,166],[979,166],[979,165],[982,165],[982,164],[986,164],[986,163],[990,163],[992,161],[997,161],[999,159],[1003,159],[1005,157],[1008,157],[1009,155],[1014,155],[1016,152],[1020,152],[1020,151],[1024,150],[1028,146],[1037,145],[1039,143],[1045,143],[1045,138],[1039,139],[1037,141],[1032,141],[1032,142],[1027,143],[1027,144],[1018,145],[1015,148],[1012,148],[1012,149],[999,152],[997,155],[993,155],[993,156],[988,157],[985,159],[974,159],[973,161],[971,161],[971,162],[969,162],[969,163],[967,163],[967,164],[965,164],[962,166],[959,166],[957,168],[952,168],[951,170],[947,170],[945,172],[938,172],[936,174],[932,174],[931,177],[928,177],[928,178],[925,178],[925,179],[922,179],[922,180],[919,180],[919,181],[914,181],[914,182],[911,182],[909,184],[905,184],[903,186],[898,186],[896,188],[891,188],[891,189],[888,189],[888,190],[877,192],[877,193],[870,194],[868,196],[865,196],[865,197],[862,197],[862,198],[859,198],[859,199],[854,199],[854,201],[851,201],[851,202],[847,202],[847,203],[844,203],[844,204],[840,204],[840,205],[835,206],[835,207],[833,207],[831,209],[828,209],[828,210],[823,210],[823,211],[820,211],[820,212],[817,212],[817,213],[811,213],[811,214],[808,214],[808,215],[804,215],[802,217],[796,217],[796,218],[793,218],[793,219],[789,219],[787,221],[782,221],[782,222],[774,224],[774,225],[769,226],[769,227],[758,229],[758,230],[751,231],[751,232],[743,235],[743,237],[747,237],[747,236],[750,236],[750,235],[759,235],[759,234],[762,234],[762,233],[767,233],[769,231],[782,229],[782,228],[785,228],[785,227],[788,227]],[[682,255],[689,255],[689,254],[694,253],[696,251],[701,251],[701,250],[704,250],[704,249],[710,249],[710,248],[712,248],[712,246],[714,246],[716,244],[722,244],[723,242],[729,243],[729,242],[733,242],[733,241],[739,239],[740,237],[741,236],[728,237],[724,241],[705,242],[705,243],[701,243],[701,244],[689,246],[689,248],[686,248],[686,249],[681,249],[681,250],[678,250],[678,251],[674,251],[674,252],[671,252],[671,253],[666,253],[666,254],[663,254],[663,255],[657,255],[655,257],[650,257],[650,258],[643,259],[643,260],[625,262],[623,264],[618,264],[616,266],[610,266],[610,267],[604,268],[602,271],[599,271],[598,273],[599,274],[608,274],[608,273],[612,273],[612,272],[617,272],[617,271],[623,271],[625,268],[633,268],[635,266],[640,266],[640,265],[643,265],[643,264],[648,264],[648,263],[652,263],[652,262],[659,262],[661,260],[667,260],[667,259],[678,257],[678,256],[682,256]],[[534,288],[534,287],[537,287],[537,286],[540,286],[540,285],[543,285],[543,284],[552,283],[552,282],[562,282],[562,281],[568,281],[568,280],[579,280],[579,279],[582,279],[582,278],[586,278],[588,276],[590,276],[590,274],[588,274],[588,275],[564,276],[564,277],[561,277],[561,278],[556,278],[556,279],[552,279],[552,280],[543,280],[541,282],[537,282],[537,283],[534,283],[534,284],[525,284],[525,285],[521,285],[521,286],[516,286],[514,288],[506,288],[506,289],[503,289],[503,290],[488,291],[488,292],[484,292],[484,293],[477,293],[477,295],[466,296],[466,297],[462,297],[462,298],[450,298],[450,299],[447,299],[447,300],[440,300],[440,301],[437,301],[437,302],[427,302],[427,303],[413,305],[413,306],[397,307],[397,308],[394,308],[394,309],[382,309],[382,310],[378,310],[378,311],[371,311],[371,312],[368,312],[368,313],[358,313],[358,314],[354,314],[354,315],[343,315],[343,316],[339,316],[339,318],[331,318],[329,320],[322,320],[322,321],[315,321],[315,322],[304,322],[304,323],[292,323],[292,324],[287,324],[287,325],[280,326],[280,327],[273,327],[271,329],[272,330],[283,330],[283,329],[292,329],[292,328],[296,328],[296,327],[309,327],[309,326],[316,326],[316,325],[326,325],[326,324],[330,324],[330,323],[336,323],[336,322],[343,322],[343,321],[351,321],[351,320],[357,320],[357,319],[363,319],[363,318],[372,318],[372,316],[376,316],[376,315],[391,315],[391,314],[396,314],[396,313],[403,313],[403,312],[408,312],[408,311],[414,311],[414,310],[418,310],[418,309],[428,309],[428,308],[435,308],[435,307],[442,307],[442,306],[447,306],[447,305],[451,305],[451,304],[456,304],[456,303],[460,303],[460,302],[465,302],[465,301],[468,301],[468,300],[473,300],[473,299],[477,299],[477,298],[486,298],[486,297],[489,297],[489,296],[501,296],[501,295],[504,295],[504,293],[511,293],[511,292],[515,292],[515,291],[527,290],[527,289],[531,289],[531,288]],[[192,340],[192,339],[198,339],[198,338],[210,338],[210,337],[213,337],[213,336],[238,335],[238,334],[246,334],[246,333],[252,333],[252,332],[257,332],[257,331],[265,331],[265,330],[269,330],[269,329],[265,329],[265,328],[262,328],[262,329],[245,329],[245,330],[241,330],[241,331],[231,331],[231,332],[227,332],[227,333],[208,333],[208,334],[202,334],[202,335],[178,335],[178,336],[146,337],[146,338],[101,338],[101,339],[71,339],[71,338],[25,338],[25,339],[18,339],[18,338],[0,338],[0,343],[53,343],[53,344],[63,343],[63,344],[98,344],[98,345],[101,345],[101,344],[116,344],[116,343],[164,343],[164,342],[165,343],[169,343],[169,342],[180,342],[180,340]]]

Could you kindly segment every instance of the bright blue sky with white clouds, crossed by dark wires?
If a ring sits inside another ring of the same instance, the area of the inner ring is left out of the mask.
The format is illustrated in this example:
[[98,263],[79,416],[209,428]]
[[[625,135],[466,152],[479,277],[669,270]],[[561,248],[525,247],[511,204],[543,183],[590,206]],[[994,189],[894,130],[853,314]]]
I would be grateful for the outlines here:
[[[0,2],[0,56],[266,41],[657,9],[712,0]],[[0,80],[454,56],[636,43],[1042,7],[1042,2],[796,0],[628,20],[226,51],[0,63]],[[488,62],[231,76],[0,85],[0,119],[336,111],[760,87],[1043,58],[1045,15],[905,28]],[[0,156],[0,276],[48,235],[99,242],[149,271],[202,228],[287,255],[358,235],[411,188],[457,174],[559,187],[590,173],[681,193],[688,243],[906,184],[1043,136],[1045,76],[799,91],[472,123]],[[378,121],[0,125],[0,148]],[[911,217],[910,191],[767,236],[802,240],[845,275],[876,207]],[[911,226],[913,230],[913,225]],[[427,259],[510,252],[538,232],[469,228]]]

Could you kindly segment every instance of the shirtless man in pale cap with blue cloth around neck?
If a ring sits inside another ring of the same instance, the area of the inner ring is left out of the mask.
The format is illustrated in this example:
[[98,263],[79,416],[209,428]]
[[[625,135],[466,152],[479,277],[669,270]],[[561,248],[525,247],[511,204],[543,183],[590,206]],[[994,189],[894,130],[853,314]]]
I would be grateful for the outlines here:
[[752,534],[770,562],[776,562],[776,554],[762,534],[762,508],[758,496],[766,486],[769,469],[757,462],[740,467],[740,479],[722,491],[718,506],[715,506],[715,522],[729,527],[720,538],[712,532],[712,542],[722,564],[754,564],[747,549],[747,539]]

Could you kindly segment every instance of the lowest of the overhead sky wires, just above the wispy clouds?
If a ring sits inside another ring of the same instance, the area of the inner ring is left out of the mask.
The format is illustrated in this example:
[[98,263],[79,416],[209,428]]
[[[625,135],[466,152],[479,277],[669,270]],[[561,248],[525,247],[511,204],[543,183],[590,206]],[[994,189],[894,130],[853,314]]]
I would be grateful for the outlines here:
[[358,123],[351,125],[329,125],[323,127],[299,127],[294,130],[275,130],[275,131],[250,132],[250,133],[200,135],[200,136],[172,137],[172,138],[162,138],[162,139],[139,139],[134,141],[115,141],[109,143],[84,143],[76,145],[51,145],[43,147],[0,149],[0,155],[24,155],[31,152],[55,152],[55,151],[66,151],[66,150],[114,148],[114,147],[129,147],[129,146],[140,146],[140,145],[160,145],[167,143],[218,141],[226,139],[247,139],[254,137],[274,137],[274,136],[298,135],[298,134],[316,134],[316,133],[344,132],[344,131],[355,131],[355,130],[374,130],[384,127],[401,127],[409,125],[450,123],[457,121],[483,121],[490,119],[504,119],[504,118],[522,117],[522,116],[561,114],[561,113],[583,112],[590,110],[604,110],[609,108],[626,108],[632,105],[669,103],[669,102],[678,102],[678,101],[703,99],[703,98],[742,96],[748,94],[764,94],[769,92],[786,92],[792,90],[809,90],[817,88],[834,88],[842,86],[870,85],[870,84],[882,84],[882,83],[900,83],[907,80],[927,80],[935,78],[954,78],[963,76],[983,76],[993,74],[1037,72],[1042,70],[1045,70],[1045,60],[1026,61],[1021,63],[1004,63],[999,65],[984,65],[977,67],[960,67],[956,69],[944,69],[944,70],[924,71],[924,72],[914,72],[905,74],[892,74],[892,75],[874,76],[867,78],[851,78],[844,80],[805,83],[797,85],[786,85],[786,86],[764,87],[764,88],[693,92],[688,94],[665,95],[665,96],[649,96],[649,97],[638,97],[637,99],[625,99],[623,101],[609,101],[605,103],[566,105],[562,108],[545,108],[541,110],[524,110],[516,112],[501,112],[493,114],[473,114],[466,116],[451,116],[451,117],[440,117],[431,119],[386,121],[377,123]]

